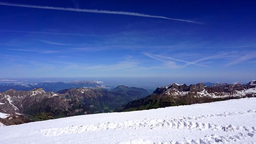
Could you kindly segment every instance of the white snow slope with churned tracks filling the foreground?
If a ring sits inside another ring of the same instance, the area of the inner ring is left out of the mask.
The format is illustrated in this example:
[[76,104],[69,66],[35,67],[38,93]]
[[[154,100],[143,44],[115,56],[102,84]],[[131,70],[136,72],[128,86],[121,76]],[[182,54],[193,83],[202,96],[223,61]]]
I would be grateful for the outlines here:
[[256,98],[1,126],[0,144],[256,144]]

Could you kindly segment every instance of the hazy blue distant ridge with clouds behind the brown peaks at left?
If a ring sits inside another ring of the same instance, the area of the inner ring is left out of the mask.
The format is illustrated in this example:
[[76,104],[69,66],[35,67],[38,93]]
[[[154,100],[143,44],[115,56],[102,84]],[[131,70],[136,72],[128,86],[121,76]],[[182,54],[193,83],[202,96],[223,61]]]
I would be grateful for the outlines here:
[[57,92],[62,89],[70,89],[70,88],[78,88],[78,87],[85,87],[85,88],[93,88],[93,87],[101,87],[99,83],[95,81],[76,81],[69,84],[62,83],[62,82],[44,82],[39,84],[5,84],[0,85],[0,92],[5,92],[9,89],[14,89],[17,91],[30,91],[35,88],[43,88],[46,92]]

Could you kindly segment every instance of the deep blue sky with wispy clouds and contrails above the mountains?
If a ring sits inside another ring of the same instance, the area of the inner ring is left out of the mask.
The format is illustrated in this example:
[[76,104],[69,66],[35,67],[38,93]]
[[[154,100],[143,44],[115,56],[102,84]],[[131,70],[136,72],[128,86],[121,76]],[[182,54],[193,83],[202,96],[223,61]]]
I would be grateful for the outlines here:
[[0,67],[1,79],[245,83],[256,79],[256,1],[0,0]]

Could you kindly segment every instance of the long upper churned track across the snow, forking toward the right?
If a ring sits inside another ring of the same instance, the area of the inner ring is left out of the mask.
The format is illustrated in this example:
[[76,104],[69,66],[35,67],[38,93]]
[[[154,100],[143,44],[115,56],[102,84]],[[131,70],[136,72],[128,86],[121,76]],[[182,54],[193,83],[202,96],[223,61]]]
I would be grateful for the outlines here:
[[[103,130],[119,130],[119,129],[139,129],[139,128],[172,128],[172,129],[197,129],[199,131],[204,131],[210,129],[223,130],[226,132],[231,132],[235,130],[244,129],[247,132],[255,132],[255,127],[247,128],[246,126],[232,126],[230,125],[217,125],[213,123],[201,123],[194,122],[191,120],[206,119],[210,117],[227,117],[230,115],[242,115],[244,113],[256,112],[256,110],[248,110],[246,112],[227,112],[223,114],[215,115],[201,115],[201,116],[191,116],[191,117],[182,117],[182,118],[173,118],[170,120],[162,119],[152,119],[152,120],[128,120],[124,122],[108,122],[108,123],[98,123],[92,125],[81,125],[81,126],[70,126],[65,128],[49,128],[42,130],[43,135],[60,135],[60,134],[71,134],[71,133],[81,133],[81,132],[94,132],[94,131],[103,131]],[[248,134],[249,136],[254,136],[253,133]]]

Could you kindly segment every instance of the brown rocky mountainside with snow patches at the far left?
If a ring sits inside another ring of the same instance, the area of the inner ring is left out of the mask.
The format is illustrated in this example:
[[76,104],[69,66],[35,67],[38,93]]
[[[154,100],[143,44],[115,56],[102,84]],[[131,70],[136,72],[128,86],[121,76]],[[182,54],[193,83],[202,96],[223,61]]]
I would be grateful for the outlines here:
[[31,91],[10,89],[0,94],[0,103],[0,112],[10,114],[8,120],[1,120],[7,125],[28,122],[30,120],[24,117],[34,116],[37,112],[51,112],[55,116],[72,115],[70,101],[63,100],[57,93],[45,92],[42,88]]

